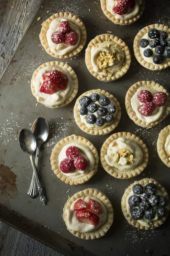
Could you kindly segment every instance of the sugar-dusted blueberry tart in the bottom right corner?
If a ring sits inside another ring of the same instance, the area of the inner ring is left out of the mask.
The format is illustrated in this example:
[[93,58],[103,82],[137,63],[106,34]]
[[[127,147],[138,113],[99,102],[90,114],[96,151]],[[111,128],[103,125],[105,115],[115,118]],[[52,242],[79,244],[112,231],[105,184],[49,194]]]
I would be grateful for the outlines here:
[[170,209],[167,191],[151,178],[131,184],[125,190],[121,205],[127,221],[143,230],[150,230],[163,224]]

